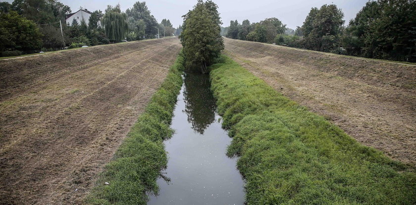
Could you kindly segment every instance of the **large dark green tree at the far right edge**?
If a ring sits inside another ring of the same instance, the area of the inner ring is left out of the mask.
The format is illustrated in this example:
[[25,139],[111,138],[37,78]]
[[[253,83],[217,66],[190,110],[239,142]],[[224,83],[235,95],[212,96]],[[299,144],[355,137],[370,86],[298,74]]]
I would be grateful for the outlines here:
[[416,1],[368,1],[346,29],[348,54],[416,61]]

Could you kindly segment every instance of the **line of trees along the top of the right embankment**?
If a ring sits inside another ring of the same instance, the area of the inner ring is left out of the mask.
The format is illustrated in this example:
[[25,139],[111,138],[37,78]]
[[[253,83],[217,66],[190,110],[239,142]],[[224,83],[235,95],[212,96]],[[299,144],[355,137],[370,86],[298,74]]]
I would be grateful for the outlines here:
[[312,8],[305,22],[289,29],[277,18],[258,23],[235,20],[221,35],[244,41],[277,44],[368,58],[416,62],[416,1],[368,1],[344,26],[344,13],[334,4]]

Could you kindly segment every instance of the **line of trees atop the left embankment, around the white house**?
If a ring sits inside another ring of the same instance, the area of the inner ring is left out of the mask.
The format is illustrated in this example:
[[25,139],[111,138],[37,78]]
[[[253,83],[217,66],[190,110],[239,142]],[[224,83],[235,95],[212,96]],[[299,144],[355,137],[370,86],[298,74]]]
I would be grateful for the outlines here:
[[182,31],[173,28],[169,19],[158,23],[145,1],[137,1],[125,12],[119,4],[108,5],[104,12],[93,11],[88,24],[85,19],[66,24],[70,13],[70,7],[58,0],[0,2],[0,56],[156,38],[157,29],[161,37]]

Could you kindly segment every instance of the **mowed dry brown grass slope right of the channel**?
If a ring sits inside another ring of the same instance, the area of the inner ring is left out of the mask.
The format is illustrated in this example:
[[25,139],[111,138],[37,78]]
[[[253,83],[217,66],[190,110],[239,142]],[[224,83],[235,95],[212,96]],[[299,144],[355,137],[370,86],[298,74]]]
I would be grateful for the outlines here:
[[225,39],[225,54],[364,145],[416,164],[416,66]]

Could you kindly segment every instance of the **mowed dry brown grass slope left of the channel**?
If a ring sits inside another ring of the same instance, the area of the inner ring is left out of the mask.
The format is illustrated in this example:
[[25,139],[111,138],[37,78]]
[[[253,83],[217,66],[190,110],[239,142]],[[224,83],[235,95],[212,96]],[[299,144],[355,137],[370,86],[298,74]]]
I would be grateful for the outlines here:
[[168,38],[0,60],[0,204],[80,204],[180,48]]

